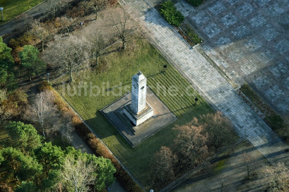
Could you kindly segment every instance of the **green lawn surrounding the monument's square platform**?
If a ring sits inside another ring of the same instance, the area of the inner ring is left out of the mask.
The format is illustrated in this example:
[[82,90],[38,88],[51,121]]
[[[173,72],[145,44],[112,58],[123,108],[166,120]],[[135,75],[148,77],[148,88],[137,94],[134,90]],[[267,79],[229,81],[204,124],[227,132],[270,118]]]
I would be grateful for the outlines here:
[[[192,120],[194,116],[214,112],[201,96],[192,89],[186,80],[162,57],[162,55],[150,44],[138,42],[138,47],[131,51],[114,52],[105,58],[109,62],[110,69],[104,73],[97,74],[95,71],[90,73],[78,72],[77,76],[82,76],[82,81],[88,85],[103,85],[109,83],[109,88],[119,86],[119,82],[131,89],[131,76],[140,70],[148,79],[147,84],[158,95],[158,97],[175,113],[178,120],[165,127],[139,146],[132,148],[118,131],[108,122],[99,112],[103,107],[115,101],[128,90],[121,90],[118,96],[113,96],[111,89],[105,87],[105,94],[98,96],[84,95],[84,91],[79,96],[69,96],[64,93],[64,97],[84,118],[86,123],[97,133],[97,135],[108,145],[114,154],[123,162],[129,171],[146,187],[151,186],[150,167],[154,161],[154,154],[162,145],[171,146],[176,136],[174,125],[183,125]],[[167,65],[166,73],[160,73],[163,65]],[[80,74],[79,74],[80,73]],[[81,73],[84,73],[81,75]],[[79,79],[79,78],[78,78]],[[65,79],[59,79],[64,82]],[[79,80],[78,80],[79,81]],[[103,83],[105,82],[105,83]],[[55,82],[57,83],[57,82]],[[78,84],[78,82],[75,82]],[[157,91],[157,84],[164,89]],[[123,86],[122,86],[123,87]],[[168,88],[174,88],[175,94],[165,94]],[[58,89],[63,87],[58,86]],[[189,94],[187,95],[184,90]],[[89,92],[89,91],[88,91]],[[194,98],[199,101],[194,106]]]

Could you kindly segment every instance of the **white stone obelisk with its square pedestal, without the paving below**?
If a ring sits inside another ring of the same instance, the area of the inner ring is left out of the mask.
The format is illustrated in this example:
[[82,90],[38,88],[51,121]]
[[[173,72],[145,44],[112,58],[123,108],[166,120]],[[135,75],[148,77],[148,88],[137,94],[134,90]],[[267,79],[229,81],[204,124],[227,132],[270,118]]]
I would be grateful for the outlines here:
[[124,106],[123,112],[134,125],[139,125],[153,116],[153,108],[146,102],[147,78],[138,71],[131,80],[131,101]]

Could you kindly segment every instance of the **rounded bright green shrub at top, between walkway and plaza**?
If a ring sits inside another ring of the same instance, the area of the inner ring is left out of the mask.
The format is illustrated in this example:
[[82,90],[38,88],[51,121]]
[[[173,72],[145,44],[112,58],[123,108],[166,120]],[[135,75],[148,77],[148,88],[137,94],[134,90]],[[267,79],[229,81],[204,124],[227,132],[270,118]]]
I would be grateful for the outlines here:
[[184,21],[184,16],[176,9],[172,1],[165,1],[160,5],[160,14],[169,24],[179,26],[180,23]]

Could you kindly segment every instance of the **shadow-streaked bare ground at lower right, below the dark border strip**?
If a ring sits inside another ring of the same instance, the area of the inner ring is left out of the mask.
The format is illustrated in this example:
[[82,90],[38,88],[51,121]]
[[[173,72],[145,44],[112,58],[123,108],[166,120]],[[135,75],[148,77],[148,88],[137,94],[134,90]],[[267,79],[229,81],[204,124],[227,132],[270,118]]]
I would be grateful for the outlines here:
[[257,185],[257,179],[247,180],[247,173],[239,169],[244,167],[244,164],[239,162],[239,155],[243,152],[255,157],[256,165],[268,164],[264,156],[247,140],[201,173],[188,178],[173,191],[221,191],[220,180],[224,182],[223,191],[260,191],[261,186]]

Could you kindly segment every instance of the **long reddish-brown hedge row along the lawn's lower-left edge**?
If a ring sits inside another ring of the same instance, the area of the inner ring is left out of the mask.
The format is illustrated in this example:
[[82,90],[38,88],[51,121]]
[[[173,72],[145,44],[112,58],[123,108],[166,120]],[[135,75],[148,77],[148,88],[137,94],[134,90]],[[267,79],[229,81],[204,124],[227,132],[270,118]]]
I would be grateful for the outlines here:
[[50,84],[47,82],[42,82],[39,87],[40,91],[50,90],[53,91],[55,95],[55,104],[57,105],[60,112],[69,112],[72,114],[72,123],[75,127],[77,133],[86,141],[86,143],[92,148],[96,153],[96,156],[102,156],[104,158],[110,159],[112,164],[116,169],[114,176],[121,183],[122,187],[129,192],[143,192],[142,188],[136,184],[136,182],[131,178],[131,176],[123,169],[123,167],[118,163],[114,156],[109,152],[109,150],[102,144],[102,142],[96,138],[96,136],[91,133],[88,127],[81,121],[81,119],[67,106],[63,99],[54,91]]

